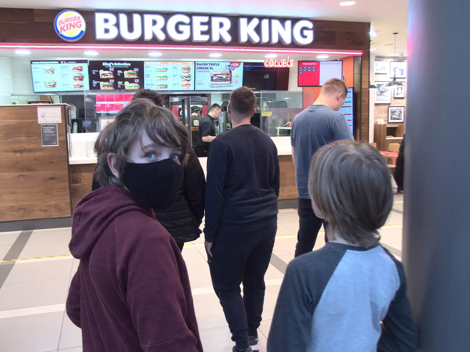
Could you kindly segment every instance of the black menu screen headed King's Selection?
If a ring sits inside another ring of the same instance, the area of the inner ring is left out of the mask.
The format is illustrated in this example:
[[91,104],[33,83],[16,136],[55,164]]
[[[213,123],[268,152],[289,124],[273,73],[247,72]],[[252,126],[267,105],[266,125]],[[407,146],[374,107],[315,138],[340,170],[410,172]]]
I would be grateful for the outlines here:
[[142,61],[90,61],[90,89],[143,88]]

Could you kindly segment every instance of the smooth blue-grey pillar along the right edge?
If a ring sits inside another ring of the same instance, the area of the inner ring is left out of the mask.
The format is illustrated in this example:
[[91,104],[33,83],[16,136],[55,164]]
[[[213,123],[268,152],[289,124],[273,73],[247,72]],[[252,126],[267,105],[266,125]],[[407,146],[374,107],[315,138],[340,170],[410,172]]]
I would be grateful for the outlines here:
[[403,260],[419,351],[470,351],[469,0],[409,0]]

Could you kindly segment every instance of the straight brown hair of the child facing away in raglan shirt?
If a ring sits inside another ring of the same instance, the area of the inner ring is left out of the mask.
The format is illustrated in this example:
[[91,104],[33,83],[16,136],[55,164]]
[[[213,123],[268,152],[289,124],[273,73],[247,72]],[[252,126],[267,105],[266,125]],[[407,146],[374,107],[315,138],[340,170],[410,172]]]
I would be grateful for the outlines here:
[[[310,196],[328,221],[328,234],[361,247],[379,243],[392,210],[392,183],[380,152],[368,143],[337,141],[319,149],[308,178]],[[331,238],[334,240],[334,238]]]

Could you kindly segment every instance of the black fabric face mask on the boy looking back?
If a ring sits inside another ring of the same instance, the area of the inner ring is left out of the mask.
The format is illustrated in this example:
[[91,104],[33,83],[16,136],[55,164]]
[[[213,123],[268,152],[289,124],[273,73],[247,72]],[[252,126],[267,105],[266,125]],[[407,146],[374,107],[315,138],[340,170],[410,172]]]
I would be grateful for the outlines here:
[[124,185],[135,200],[155,210],[174,203],[182,180],[183,167],[172,159],[127,163],[123,174]]

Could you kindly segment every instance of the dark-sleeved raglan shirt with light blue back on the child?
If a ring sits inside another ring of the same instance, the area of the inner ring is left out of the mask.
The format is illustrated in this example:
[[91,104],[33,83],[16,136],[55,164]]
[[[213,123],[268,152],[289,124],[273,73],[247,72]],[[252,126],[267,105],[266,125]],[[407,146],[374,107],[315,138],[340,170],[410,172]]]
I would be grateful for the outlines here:
[[329,242],[287,267],[267,351],[411,352],[417,340],[399,260]]

